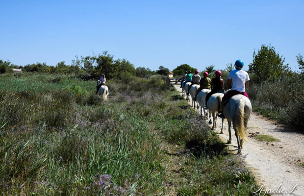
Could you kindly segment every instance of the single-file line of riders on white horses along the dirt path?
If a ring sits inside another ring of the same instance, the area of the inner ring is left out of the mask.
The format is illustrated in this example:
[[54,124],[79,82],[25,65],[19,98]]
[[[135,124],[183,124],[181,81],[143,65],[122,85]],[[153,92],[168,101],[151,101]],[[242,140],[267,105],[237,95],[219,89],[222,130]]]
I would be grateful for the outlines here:
[[[207,72],[204,72],[203,78],[201,78],[198,71],[195,71],[194,75],[189,71],[184,74],[180,88],[188,90],[185,93],[189,95],[193,85],[200,85],[193,97],[193,101],[198,101],[201,104],[201,112],[202,109],[203,111],[204,109],[209,110],[209,118],[212,114],[212,130],[216,126],[215,113],[217,113],[217,117],[222,119],[221,133],[223,133],[224,119],[227,119],[229,132],[228,143],[231,143],[230,126],[232,122],[238,143],[238,153],[241,153],[243,140],[247,141],[245,130],[252,111],[250,100],[245,92],[250,78],[248,73],[242,70],[244,67],[242,60],[237,60],[234,67],[235,70],[228,74],[227,84],[230,89],[226,93],[224,90],[224,80],[221,78],[222,73],[220,71],[216,71],[215,77],[212,79],[208,77]],[[185,89],[185,87],[188,88]],[[209,124],[212,124],[211,118]],[[240,141],[239,137],[241,138]]]

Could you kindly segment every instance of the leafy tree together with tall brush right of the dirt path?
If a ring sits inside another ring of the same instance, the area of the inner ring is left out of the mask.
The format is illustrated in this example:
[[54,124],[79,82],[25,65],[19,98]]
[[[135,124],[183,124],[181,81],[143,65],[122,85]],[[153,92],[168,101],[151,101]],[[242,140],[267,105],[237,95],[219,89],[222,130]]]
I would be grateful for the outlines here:
[[[301,68],[301,55],[297,56]],[[253,110],[279,121],[301,127],[304,125],[304,75],[289,70],[274,47],[262,45],[253,53],[249,65],[250,82],[246,92]],[[302,130],[302,129],[301,129]]]

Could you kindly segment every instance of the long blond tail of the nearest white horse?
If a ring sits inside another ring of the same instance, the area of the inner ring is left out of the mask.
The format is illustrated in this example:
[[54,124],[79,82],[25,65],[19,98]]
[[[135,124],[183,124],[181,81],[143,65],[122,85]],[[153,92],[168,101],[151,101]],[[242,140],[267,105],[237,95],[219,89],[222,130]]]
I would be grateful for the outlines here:
[[235,130],[237,132],[237,135],[245,140],[247,142],[247,136],[246,136],[246,127],[244,125],[244,119],[245,119],[245,99],[240,99],[240,102],[236,108],[236,114],[235,114]]

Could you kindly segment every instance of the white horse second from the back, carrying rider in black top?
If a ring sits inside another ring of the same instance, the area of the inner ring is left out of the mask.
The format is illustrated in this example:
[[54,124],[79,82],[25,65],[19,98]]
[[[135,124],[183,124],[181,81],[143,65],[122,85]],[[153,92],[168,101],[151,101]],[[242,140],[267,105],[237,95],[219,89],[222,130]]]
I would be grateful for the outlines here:
[[[217,115],[218,115],[218,110],[219,107],[221,105],[222,102],[222,98],[224,97],[223,93],[215,93],[213,95],[211,95],[211,97],[209,98],[208,102],[207,102],[207,107],[209,110],[209,124],[212,124],[211,121],[211,114],[213,117],[213,125],[211,130],[214,130],[214,127],[216,128],[216,119],[217,119]],[[215,115],[216,114],[216,115]],[[221,129],[221,133],[223,132],[223,126],[224,126],[224,119],[222,119],[222,129]]]

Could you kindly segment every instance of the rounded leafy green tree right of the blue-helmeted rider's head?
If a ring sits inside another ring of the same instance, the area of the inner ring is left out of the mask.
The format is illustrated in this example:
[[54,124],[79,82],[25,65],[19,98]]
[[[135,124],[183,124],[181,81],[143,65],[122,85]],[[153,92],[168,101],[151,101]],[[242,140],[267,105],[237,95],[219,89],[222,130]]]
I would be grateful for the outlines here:
[[288,64],[284,65],[284,62],[285,58],[279,56],[274,47],[262,45],[257,53],[254,50],[253,63],[249,64],[249,71],[255,73],[259,80],[266,80],[289,70]]

